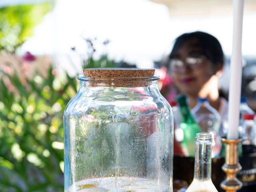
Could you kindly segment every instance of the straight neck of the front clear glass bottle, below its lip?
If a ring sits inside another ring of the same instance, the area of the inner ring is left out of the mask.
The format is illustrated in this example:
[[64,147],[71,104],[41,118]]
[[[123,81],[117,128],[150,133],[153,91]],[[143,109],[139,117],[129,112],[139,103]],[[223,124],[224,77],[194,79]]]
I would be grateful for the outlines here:
[[212,143],[196,142],[194,179],[211,180]]

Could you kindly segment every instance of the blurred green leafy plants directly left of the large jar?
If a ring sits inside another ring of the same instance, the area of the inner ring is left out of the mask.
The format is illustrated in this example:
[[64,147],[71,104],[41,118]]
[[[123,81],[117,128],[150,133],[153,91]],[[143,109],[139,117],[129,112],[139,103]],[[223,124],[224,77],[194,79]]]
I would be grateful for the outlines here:
[[63,191],[63,113],[77,92],[76,78],[38,74],[20,81],[0,79],[0,191]]

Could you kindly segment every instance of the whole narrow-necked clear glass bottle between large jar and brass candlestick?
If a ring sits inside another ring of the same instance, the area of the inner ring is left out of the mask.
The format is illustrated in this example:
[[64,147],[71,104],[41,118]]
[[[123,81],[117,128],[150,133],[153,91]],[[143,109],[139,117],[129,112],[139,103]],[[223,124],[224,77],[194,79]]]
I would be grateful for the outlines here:
[[218,192],[212,183],[212,134],[196,134],[194,179],[186,192]]

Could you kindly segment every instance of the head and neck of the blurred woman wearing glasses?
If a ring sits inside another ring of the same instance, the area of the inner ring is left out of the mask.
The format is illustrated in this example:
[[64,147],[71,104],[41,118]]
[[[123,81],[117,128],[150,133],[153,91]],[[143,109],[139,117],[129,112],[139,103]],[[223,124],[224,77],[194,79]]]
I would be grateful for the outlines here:
[[178,92],[188,96],[190,108],[198,97],[208,97],[210,105],[226,117],[228,103],[218,89],[224,64],[220,42],[205,32],[185,33],[176,39],[169,59],[174,84]]

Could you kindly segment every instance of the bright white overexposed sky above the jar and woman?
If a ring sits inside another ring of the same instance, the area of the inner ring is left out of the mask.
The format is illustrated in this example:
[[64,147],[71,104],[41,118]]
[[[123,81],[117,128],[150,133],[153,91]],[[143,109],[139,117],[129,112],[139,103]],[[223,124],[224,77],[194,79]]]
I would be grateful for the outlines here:
[[[255,21],[256,12],[244,14],[245,56],[256,56]],[[86,54],[84,38],[97,38],[98,53],[108,52],[110,58],[138,67],[153,67],[154,61],[170,52],[177,36],[196,30],[216,36],[224,53],[231,54],[231,14],[172,18],[166,6],[149,0],[58,0],[20,52],[68,54],[77,62],[70,48],[75,46],[78,53]],[[101,42],[106,39],[110,43],[104,48]]]

